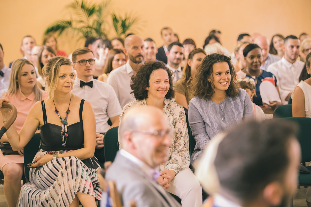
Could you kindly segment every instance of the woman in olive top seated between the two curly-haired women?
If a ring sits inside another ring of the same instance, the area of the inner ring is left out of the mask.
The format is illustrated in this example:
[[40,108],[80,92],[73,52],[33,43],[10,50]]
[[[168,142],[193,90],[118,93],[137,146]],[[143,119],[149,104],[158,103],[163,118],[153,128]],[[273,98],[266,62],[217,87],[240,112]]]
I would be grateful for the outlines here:
[[174,87],[176,103],[188,109],[189,101],[193,98],[190,90],[191,82],[195,74],[197,74],[197,67],[205,58],[206,53],[201,48],[192,50],[187,59],[187,65],[183,68],[183,76],[180,78]]

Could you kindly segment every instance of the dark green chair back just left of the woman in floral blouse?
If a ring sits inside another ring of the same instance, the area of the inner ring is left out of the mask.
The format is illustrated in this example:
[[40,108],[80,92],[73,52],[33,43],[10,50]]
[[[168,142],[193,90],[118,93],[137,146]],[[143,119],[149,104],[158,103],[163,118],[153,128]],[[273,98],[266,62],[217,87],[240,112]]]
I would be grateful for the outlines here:
[[118,129],[119,127],[113,127],[105,133],[104,136],[105,162],[107,161],[113,162],[119,150]]

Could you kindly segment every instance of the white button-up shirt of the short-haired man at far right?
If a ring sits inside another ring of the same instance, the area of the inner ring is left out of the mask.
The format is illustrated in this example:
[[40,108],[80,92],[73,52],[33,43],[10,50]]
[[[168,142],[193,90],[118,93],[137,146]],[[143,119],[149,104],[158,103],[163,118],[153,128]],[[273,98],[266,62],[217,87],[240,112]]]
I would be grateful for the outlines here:
[[268,72],[271,72],[276,76],[282,101],[285,101],[287,95],[292,93],[295,86],[299,83],[299,76],[303,67],[304,62],[296,60],[291,64],[283,57],[281,60],[272,63],[267,68]]

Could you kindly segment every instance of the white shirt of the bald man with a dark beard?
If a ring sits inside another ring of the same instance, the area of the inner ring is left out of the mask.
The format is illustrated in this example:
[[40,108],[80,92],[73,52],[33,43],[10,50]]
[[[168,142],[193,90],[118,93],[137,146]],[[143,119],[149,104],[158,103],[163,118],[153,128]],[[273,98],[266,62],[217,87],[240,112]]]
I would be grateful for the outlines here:
[[130,63],[126,62],[123,66],[111,71],[108,76],[107,83],[111,85],[116,92],[121,108],[131,101],[136,100],[134,94],[130,94],[132,91],[130,86],[132,75],[134,75],[134,71]]

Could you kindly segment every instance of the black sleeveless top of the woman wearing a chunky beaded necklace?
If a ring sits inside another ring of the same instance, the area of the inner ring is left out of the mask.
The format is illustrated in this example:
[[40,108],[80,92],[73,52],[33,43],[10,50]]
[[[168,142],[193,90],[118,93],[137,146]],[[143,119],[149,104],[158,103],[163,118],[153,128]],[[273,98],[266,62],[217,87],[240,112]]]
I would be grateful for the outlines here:
[[[44,101],[41,101],[42,112],[43,112],[43,126],[40,127],[40,136],[42,145],[42,150],[45,151],[59,151],[59,150],[77,150],[83,148],[84,143],[84,134],[83,134],[83,122],[82,122],[82,110],[84,99],[80,103],[80,122],[67,125],[68,137],[66,146],[63,147],[62,136],[62,127],[56,124],[48,123],[46,118],[45,104]],[[70,117],[70,116],[69,116]]]

